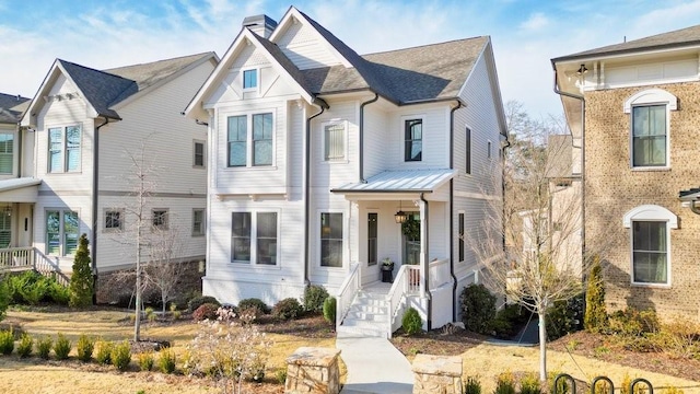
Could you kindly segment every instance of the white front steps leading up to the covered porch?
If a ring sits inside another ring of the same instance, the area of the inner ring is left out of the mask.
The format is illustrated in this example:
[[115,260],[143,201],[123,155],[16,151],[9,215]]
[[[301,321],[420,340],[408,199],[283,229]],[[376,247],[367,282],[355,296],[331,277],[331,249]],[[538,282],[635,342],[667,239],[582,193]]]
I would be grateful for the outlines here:
[[338,338],[389,337],[389,313],[386,294],[360,290],[348,315],[337,327]]

